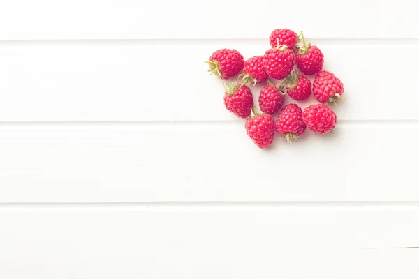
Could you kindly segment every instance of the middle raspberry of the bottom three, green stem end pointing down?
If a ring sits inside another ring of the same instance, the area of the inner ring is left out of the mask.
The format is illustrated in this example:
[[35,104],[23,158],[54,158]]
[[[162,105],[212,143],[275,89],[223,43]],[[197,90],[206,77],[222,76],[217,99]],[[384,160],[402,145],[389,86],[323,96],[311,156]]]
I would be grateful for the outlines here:
[[306,128],[302,121],[302,110],[297,104],[286,105],[275,123],[279,135],[285,137],[288,143],[304,134]]

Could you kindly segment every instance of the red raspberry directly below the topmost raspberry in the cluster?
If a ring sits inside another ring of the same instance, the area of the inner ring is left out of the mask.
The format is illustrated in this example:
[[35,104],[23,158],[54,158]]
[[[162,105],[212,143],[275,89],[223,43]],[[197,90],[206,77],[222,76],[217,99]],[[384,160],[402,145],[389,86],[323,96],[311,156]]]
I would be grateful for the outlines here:
[[282,80],[291,73],[295,64],[295,54],[286,45],[271,48],[263,56],[263,66],[266,73],[277,80]]

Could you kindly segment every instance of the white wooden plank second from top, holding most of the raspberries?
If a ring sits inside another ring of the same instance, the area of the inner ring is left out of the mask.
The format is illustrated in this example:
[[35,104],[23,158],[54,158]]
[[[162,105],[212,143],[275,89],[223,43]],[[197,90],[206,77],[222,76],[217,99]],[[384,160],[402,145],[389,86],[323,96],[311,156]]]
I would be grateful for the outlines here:
[[[408,82],[416,78],[411,61],[419,60],[419,45],[319,46],[325,69],[345,85],[340,120],[419,119],[419,94]],[[246,57],[266,49],[244,43],[0,44],[0,121],[237,121],[223,105],[223,86],[203,63],[221,47],[237,47]],[[258,91],[253,88],[255,100]],[[401,92],[407,101],[394,105]]]

